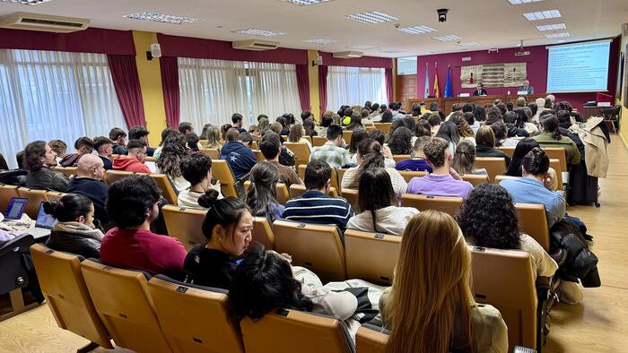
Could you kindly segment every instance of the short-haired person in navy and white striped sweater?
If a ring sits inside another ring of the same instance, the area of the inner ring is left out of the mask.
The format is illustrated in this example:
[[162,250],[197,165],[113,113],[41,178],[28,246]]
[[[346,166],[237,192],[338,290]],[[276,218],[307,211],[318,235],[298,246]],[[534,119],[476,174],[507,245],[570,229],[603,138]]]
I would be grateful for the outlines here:
[[351,205],[342,197],[331,197],[331,168],[326,161],[311,160],[305,168],[306,192],[289,200],[283,218],[303,223],[334,224],[344,230],[353,217]]

